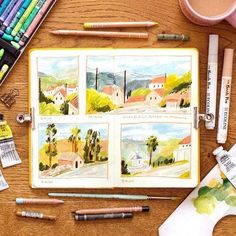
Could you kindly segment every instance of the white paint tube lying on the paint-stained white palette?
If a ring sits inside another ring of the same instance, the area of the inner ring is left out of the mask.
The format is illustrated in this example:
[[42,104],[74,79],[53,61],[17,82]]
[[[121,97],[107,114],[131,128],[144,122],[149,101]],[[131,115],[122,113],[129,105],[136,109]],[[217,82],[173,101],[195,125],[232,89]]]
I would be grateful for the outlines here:
[[215,149],[213,155],[216,156],[221,171],[236,188],[236,157],[225,151],[222,146]]

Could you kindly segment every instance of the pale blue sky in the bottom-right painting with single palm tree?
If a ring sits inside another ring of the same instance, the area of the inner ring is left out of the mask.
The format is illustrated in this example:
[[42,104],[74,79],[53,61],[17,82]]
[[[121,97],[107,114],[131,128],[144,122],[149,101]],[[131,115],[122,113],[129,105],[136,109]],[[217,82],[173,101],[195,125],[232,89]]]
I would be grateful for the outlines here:
[[183,139],[190,135],[190,124],[143,123],[122,125],[122,140],[147,140],[154,135],[159,140],[166,141],[177,138]]

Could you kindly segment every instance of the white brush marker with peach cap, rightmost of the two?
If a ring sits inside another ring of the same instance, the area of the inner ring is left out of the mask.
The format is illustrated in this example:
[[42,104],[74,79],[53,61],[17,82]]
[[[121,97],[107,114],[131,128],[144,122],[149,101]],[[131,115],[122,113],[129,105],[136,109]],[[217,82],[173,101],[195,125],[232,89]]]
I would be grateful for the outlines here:
[[225,49],[224,67],[221,82],[220,109],[217,142],[225,143],[228,133],[231,82],[233,74],[234,49]]

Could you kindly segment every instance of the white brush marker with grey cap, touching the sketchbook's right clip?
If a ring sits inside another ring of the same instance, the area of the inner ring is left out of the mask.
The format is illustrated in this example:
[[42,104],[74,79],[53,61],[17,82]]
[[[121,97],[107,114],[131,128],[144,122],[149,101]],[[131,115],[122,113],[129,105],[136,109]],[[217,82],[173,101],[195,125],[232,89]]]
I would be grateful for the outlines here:
[[219,35],[211,34],[209,37],[206,114],[213,114],[213,120],[206,122],[207,129],[214,129],[216,123],[216,93],[218,77],[218,49]]

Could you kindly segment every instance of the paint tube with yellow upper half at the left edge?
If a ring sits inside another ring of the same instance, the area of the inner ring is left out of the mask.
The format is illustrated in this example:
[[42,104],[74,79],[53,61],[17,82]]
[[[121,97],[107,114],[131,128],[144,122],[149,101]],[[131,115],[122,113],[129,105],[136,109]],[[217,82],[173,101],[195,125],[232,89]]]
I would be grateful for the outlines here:
[[0,114],[0,160],[2,167],[6,168],[21,163],[21,159],[16,151],[13,135],[10,126],[3,120]]

